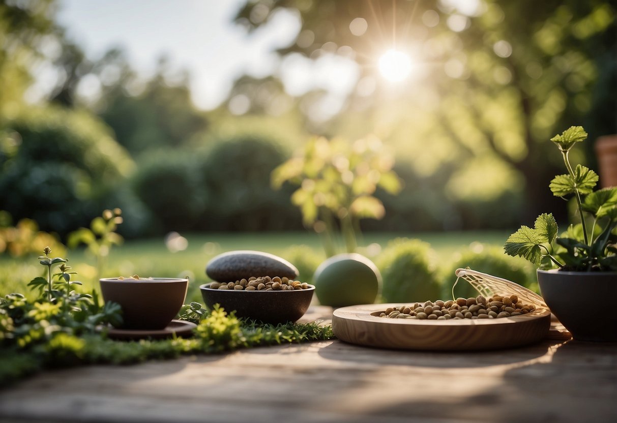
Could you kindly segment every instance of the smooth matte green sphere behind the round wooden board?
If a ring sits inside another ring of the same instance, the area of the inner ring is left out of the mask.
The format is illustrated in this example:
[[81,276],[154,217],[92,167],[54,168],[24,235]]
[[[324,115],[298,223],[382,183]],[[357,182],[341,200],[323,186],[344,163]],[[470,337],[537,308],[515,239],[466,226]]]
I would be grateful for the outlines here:
[[339,254],[321,263],[313,276],[321,305],[342,307],[372,304],[377,298],[381,274],[363,255]]

